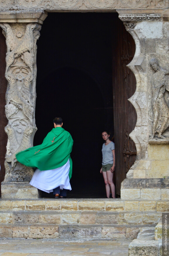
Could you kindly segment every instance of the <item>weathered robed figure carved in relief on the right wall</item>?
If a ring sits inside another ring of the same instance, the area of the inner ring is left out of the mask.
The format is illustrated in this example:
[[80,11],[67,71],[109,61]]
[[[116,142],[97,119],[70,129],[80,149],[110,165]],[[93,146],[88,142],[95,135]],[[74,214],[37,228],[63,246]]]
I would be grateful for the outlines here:
[[169,107],[165,101],[165,92],[169,91],[166,86],[166,75],[169,71],[164,70],[158,64],[156,58],[150,60],[150,66],[154,70],[151,77],[153,129],[151,139],[158,133],[158,138],[164,139],[162,133],[169,127]]

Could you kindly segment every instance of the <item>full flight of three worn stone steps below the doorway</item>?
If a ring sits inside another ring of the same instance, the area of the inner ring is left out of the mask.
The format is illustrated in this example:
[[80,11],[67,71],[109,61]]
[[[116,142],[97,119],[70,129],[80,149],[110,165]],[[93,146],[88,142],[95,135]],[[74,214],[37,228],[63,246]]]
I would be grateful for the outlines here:
[[168,210],[168,200],[0,199],[0,237],[135,239]]

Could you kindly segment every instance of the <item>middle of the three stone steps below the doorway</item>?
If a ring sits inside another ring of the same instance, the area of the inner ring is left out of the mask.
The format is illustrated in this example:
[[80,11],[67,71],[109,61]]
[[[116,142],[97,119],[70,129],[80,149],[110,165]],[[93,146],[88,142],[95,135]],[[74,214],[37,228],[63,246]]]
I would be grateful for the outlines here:
[[161,213],[102,211],[14,211],[0,212],[0,223],[11,224],[116,224],[156,225]]

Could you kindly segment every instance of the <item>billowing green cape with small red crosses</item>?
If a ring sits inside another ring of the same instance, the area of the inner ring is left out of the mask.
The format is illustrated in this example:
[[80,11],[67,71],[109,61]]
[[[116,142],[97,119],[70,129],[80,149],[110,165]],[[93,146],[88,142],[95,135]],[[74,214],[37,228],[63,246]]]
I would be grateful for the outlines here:
[[53,128],[47,134],[43,143],[16,154],[21,164],[36,167],[40,171],[51,170],[63,166],[70,159],[69,178],[72,177],[72,151],[73,139],[69,132],[62,127]]

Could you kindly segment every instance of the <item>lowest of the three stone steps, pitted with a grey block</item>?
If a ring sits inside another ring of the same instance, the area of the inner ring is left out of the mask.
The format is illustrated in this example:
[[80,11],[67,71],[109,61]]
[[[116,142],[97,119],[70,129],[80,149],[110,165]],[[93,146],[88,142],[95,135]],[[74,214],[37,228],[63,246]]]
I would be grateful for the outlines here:
[[0,238],[133,239],[138,225],[0,224]]

